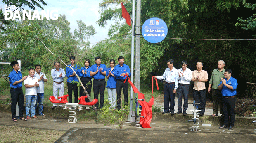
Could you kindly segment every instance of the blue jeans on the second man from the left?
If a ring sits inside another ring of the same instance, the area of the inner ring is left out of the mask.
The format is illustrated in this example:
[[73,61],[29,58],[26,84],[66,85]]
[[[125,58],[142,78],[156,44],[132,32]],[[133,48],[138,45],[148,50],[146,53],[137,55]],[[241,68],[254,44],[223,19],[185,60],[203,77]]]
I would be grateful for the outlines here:
[[31,113],[31,117],[36,114],[36,95],[26,95],[26,117],[29,116],[29,110]]

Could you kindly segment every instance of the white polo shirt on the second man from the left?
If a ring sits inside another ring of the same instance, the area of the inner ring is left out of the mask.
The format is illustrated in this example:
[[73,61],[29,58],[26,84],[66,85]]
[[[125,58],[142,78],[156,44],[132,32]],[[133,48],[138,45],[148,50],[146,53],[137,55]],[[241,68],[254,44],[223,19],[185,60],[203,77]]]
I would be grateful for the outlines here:
[[[27,79],[24,80],[24,85],[34,85],[36,82],[38,83],[38,79],[35,76],[33,78],[31,76],[28,76]],[[26,87],[25,95],[37,95],[36,87]]]

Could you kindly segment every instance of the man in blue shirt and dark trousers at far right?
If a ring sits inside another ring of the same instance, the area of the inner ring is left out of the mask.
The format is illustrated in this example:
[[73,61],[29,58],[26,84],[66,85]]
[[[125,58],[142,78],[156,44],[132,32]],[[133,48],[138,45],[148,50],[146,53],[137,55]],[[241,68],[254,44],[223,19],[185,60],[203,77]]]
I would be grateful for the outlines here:
[[219,127],[220,129],[228,128],[228,121],[230,126],[228,130],[233,130],[235,123],[235,95],[237,94],[237,80],[231,77],[231,69],[224,71],[225,79],[221,78],[221,82],[218,85],[218,89],[221,90],[223,96],[223,112],[224,112],[224,124]]

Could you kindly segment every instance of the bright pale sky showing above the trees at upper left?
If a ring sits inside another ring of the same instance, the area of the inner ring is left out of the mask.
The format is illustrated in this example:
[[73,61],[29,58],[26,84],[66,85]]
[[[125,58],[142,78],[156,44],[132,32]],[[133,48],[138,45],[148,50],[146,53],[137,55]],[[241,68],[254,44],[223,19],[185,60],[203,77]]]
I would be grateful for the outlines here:
[[[58,10],[58,14],[66,15],[66,19],[70,22],[71,32],[74,32],[74,29],[78,29],[76,20],[82,20],[86,25],[93,25],[97,33],[88,39],[91,42],[90,46],[99,40],[108,38],[109,25],[114,24],[114,22],[109,21],[105,28],[96,24],[96,21],[100,18],[98,10],[100,9],[99,3],[102,0],[44,0],[44,2],[47,3],[46,6],[39,2],[44,10]],[[4,3],[1,0],[0,8],[3,7]],[[29,10],[29,8],[24,9]],[[40,12],[40,10],[38,11]]]

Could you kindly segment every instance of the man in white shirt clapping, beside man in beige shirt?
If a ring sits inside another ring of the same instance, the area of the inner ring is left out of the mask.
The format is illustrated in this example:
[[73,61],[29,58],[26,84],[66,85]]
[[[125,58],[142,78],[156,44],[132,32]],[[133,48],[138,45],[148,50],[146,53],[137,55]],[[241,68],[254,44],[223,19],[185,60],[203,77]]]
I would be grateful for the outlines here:
[[192,79],[192,71],[187,68],[188,62],[181,62],[182,68],[178,70],[179,72],[179,87],[177,89],[177,97],[178,97],[178,112],[176,114],[182,114],[182,93],[184,97],[183,104],[183,115],[187,115],[186,110],[188,108],[188,97],[189,97],[189,83]]

